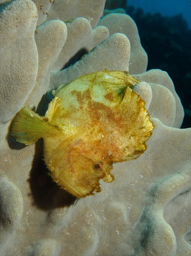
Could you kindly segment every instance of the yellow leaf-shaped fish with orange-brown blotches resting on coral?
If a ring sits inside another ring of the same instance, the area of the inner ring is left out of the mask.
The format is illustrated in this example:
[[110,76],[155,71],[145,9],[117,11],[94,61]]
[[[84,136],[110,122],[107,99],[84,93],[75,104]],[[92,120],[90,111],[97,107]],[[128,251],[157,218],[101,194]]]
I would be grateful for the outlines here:
[[45,116],[26,106],[16,115],[11,135],[30,145],[44,140],[52,179],[76,197],[100,192],[112,182],[112,164],[137,158],[146,149],[153,123],[132,88],[139,83],[123,71],[84,75],[52,94]]

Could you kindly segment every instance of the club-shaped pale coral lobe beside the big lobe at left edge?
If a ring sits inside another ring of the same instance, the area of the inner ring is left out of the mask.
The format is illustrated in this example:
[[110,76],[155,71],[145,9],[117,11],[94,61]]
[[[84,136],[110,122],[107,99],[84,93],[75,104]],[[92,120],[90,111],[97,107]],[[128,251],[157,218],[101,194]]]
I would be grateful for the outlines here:
[[37,27],[35,42],[38,49],[38,75],[27,104],[37,108],[42,95],[50,88],[50,72],[67,38],[67,27],[61,20],[51,20]]

